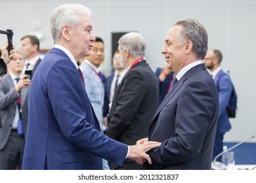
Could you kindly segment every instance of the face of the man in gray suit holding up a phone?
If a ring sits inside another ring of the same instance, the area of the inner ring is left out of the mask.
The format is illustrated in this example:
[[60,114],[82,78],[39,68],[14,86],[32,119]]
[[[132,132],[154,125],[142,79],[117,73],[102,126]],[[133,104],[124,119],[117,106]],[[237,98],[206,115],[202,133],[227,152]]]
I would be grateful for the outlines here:
[[14,73],[15,75],[20,75],[22,73],[24,65],[25,60],[22,54],[20,52],[16,52],[16,58],[8,64],[8,68],[10,69],[11,73]]

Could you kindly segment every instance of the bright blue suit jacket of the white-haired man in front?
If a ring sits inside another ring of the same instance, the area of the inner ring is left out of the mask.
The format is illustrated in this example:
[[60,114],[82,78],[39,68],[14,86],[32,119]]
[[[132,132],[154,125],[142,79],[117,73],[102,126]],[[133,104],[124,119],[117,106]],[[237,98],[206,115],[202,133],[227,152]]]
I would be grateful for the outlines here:
[[53,48],[33,75],[22,169],[102,169],[102,159],[122,165],[127,145],[100,133],[79,73]]

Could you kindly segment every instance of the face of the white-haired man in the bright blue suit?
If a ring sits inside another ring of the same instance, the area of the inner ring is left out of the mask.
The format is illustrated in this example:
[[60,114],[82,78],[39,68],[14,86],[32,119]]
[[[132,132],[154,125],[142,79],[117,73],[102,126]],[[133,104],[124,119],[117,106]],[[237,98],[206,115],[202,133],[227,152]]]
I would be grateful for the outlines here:
[[78,17],[80,22],[74,29],[71,27],[64,29],[64,34],[68,35],[66,39],[69,41],[69,50],[77,61],[84,56],[89,56],[93,41],[95,41],[90,18],[84,14],[78,14]]

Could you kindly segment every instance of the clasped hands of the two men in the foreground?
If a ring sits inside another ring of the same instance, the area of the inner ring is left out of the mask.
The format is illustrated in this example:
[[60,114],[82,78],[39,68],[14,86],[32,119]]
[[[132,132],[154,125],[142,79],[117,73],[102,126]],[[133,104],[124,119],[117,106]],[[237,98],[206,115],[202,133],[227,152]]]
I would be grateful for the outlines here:
[[136,145],[129,146],[129,154],[127,158],[133,159],[136,163],[140,165],[142,165],[146,161],[151,164],[152,161],[150,159],[150,156],[146,154],[146,152],[160,145],[160,142],[148,141],[148,138],[140,139],[136,142]]

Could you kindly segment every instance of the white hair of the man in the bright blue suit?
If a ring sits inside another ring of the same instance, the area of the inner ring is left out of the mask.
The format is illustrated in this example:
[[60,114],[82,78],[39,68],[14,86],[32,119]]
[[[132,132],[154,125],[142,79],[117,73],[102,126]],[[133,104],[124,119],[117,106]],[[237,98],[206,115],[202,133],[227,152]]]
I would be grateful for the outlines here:
[[73,29],[79,24],[77,14],[85,14],[91,16],[91,10],[83,5],[66,4],[60,5],[53,10],[51,16],[51,34],[54,44],[60,41],[62,25],[68,25]]

